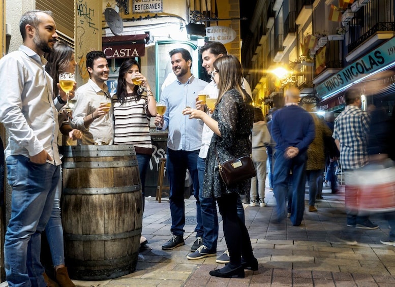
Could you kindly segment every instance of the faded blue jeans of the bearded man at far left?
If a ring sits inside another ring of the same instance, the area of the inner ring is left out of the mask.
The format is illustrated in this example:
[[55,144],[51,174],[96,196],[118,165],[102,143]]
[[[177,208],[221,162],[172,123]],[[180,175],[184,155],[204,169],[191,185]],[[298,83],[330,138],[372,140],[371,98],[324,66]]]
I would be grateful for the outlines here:
[[23,155],[7,157],[12,187],[11,218],[4,244],[10,286],[45,286],[40,263],[41,232],[51,215],[60,167],[37,165]]

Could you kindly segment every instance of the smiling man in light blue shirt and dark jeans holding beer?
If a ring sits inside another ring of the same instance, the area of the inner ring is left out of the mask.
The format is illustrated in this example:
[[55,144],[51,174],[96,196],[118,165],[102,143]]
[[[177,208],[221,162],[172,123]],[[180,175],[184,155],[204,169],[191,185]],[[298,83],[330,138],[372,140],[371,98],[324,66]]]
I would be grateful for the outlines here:
[[[171,65],[177,80],[166,86],[161,94],[161,103],[166,105],[165,115],[155,118],[155,124],[162,129],[169,127],[167,139],[166,168],[170,185],[170,212],[172,238],[163,246],[163,250],[171,250],[184,245],[185,203],[184,183],[187,168],[191,174],[194,196],[196,198],[197,226],[195,231],[202,231],[199,203],[199,180],[196,168],[199,154],[203,122],[189,119],[182,111],[185,107],[195,107],[198,92],[203,90],[206,82],[195,78],[191,73],[192,57],[188,50],[178,48],[170,51]],[[197,234],[196,238],[203,234]],[[195,240],[192,248],[195,251],[201,241]]]

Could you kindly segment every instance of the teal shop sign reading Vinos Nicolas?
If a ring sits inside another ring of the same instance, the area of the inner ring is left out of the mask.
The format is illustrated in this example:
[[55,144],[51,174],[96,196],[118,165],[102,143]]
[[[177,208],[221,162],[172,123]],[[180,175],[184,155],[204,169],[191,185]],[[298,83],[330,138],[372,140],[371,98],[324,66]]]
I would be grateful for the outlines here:
[[321,97],[334,94],[344,86],[383,68],[395,60],[395,37],[363,56],[316,87]]

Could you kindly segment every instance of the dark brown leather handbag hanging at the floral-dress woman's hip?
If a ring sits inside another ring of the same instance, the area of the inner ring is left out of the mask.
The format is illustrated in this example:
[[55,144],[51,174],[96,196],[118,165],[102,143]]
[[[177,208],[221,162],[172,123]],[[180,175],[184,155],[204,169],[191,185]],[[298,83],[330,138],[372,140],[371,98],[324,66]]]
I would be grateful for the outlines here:
[[251,154],[244,155],[235,160],[220,163],[216,149],[218,167],[220,169],[220,176],[225,184],[229,187],[236,185],[242,181],[256,176],[254,163],[252,162]]

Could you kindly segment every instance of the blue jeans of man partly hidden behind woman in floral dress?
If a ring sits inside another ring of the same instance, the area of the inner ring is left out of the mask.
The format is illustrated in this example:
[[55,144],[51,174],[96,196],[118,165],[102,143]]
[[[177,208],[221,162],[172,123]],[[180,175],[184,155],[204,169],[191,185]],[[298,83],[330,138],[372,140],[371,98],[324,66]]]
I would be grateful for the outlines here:
[[[204,169],[206,159],[198,157],[197,159],[197,169],[199,175],[199,201],[200,201],[200,211],[202,217],[202,226],[197,234],[202,234],[203,244],[211,252],[217,251],[218,242],[218,214],[216,199],[214,197],[205,198],[203,197],[203,180],[204,180]],[[237,197],[236,202],[237,216],[243,224],[245,224],[244,218],[244,208],[241,203],[240,197]],[[197,235],[201,236],[201,235]]]

